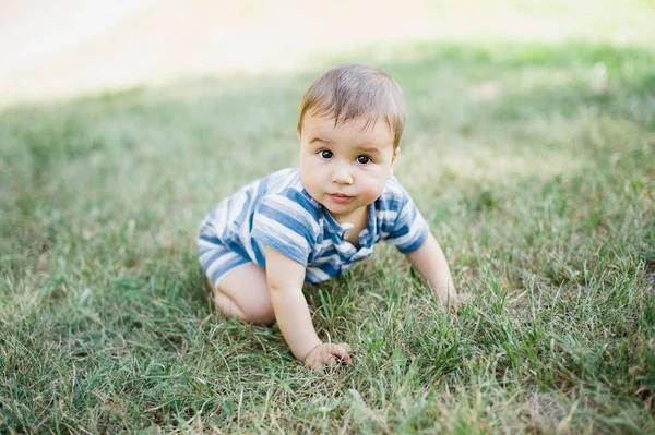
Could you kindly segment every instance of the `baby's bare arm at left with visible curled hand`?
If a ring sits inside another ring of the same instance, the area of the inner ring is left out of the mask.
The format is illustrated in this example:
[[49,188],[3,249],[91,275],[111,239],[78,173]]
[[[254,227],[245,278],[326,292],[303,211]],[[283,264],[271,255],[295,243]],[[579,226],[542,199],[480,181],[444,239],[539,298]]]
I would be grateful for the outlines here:
[[324,343],[313,328],[302,294],[305,271],[300,263],[266,247],[266,279],[279,330],[294,355],[315,371],[323,364],[335,365],[334,357],[348,364],[350,347],[347,343]]

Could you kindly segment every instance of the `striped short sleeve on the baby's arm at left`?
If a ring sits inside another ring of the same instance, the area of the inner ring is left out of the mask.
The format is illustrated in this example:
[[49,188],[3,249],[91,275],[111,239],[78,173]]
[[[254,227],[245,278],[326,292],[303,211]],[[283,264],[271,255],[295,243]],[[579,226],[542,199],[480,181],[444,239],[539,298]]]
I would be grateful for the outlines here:
[[258,204],[251,237],[307,266],[318,223],[310,210],[289,194],[269,194]]

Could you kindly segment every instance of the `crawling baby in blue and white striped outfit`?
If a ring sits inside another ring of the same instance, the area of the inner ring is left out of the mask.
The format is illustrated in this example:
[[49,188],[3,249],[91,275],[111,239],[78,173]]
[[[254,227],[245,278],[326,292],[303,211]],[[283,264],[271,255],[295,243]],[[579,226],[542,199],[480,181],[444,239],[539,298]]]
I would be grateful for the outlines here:
[[443,252],[393,177],[404,126],[402,90],[382,71],[350,63],[319,76],[300,105],[299,168],[241,188],[200,226],[216,309],[240,322],[277,322],[313,370],[348,364],[347,343],[318,337],[302,283],[346,273],[380,240],[407,256],[441,304],[457,306]]

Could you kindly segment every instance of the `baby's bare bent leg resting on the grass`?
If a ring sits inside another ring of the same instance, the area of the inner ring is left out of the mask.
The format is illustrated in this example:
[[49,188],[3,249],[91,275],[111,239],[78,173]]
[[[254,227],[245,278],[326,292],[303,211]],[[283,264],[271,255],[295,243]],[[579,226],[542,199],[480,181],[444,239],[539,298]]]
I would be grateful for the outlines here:
[[266,273],[249,263],[230,270],[217,286],[212,287],[216,310],[227,317],[254,325],[272,325],[275,313],[271,304],[271,292]]

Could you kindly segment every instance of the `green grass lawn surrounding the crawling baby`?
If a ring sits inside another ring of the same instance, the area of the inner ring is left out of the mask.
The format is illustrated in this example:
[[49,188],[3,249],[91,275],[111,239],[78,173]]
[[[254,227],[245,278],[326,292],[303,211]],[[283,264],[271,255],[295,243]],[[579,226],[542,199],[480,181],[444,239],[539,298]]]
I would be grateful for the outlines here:
[[204,215],[296,162],[317,71],[0,113],[0,432],[655,432],[655,52],[424,43],[356,52],[403,87],[395,173],[473,303],[380,245],[308,286],[355,364],[214,313]]

